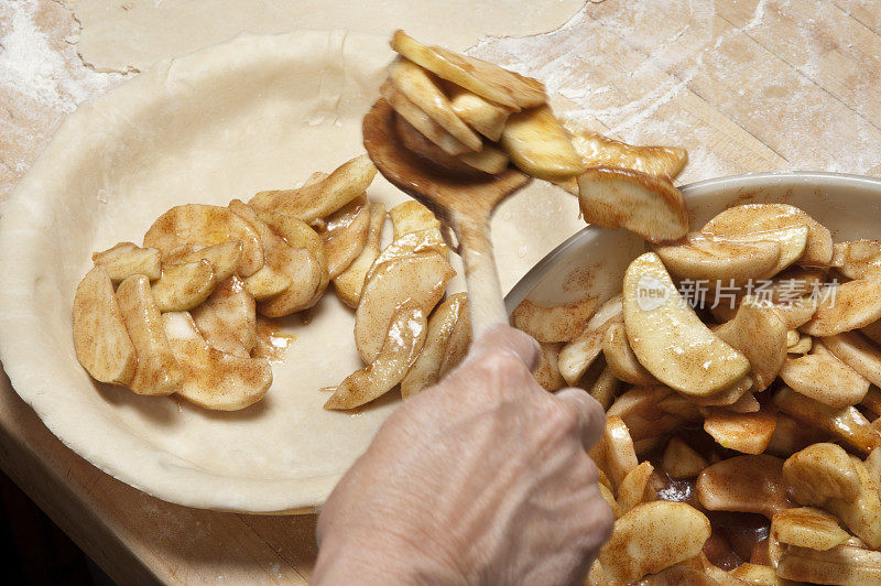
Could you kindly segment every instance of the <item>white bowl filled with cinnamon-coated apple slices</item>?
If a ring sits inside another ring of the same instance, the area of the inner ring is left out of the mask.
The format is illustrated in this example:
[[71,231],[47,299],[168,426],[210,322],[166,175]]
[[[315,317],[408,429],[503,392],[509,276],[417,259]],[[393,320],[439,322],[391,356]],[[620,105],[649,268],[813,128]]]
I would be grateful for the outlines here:
[[617,521],[588,583],[877,584],[881,181],[710,180],[687,216],[666,183],[578,182],[594,225],[507,304],[537,380],[607,412]]

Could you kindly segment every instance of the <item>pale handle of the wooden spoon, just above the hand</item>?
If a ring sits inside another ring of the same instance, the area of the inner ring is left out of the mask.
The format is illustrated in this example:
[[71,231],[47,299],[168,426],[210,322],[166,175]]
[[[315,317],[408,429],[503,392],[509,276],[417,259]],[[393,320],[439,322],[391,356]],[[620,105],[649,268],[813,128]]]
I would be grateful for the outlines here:
[[471,334],[477,339],[497,324],[508,324],[502,285],[492,253],[489,219],[457,218],[456,236],[459,254],[465,263],[468,305],[471,312]]

